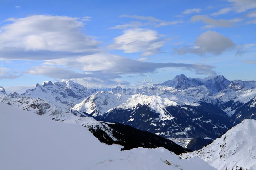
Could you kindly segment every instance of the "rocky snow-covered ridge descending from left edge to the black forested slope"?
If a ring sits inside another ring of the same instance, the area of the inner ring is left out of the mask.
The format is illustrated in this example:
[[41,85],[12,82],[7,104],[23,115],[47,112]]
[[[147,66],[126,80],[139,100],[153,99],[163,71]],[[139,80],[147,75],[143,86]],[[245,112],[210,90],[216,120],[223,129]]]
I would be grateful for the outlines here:
[[11,97],[10,95],[2,95],[0,96],[0,103],[6,103],[19,109],[30,111],[43,117],[47,117],[51,120],[67,123],[77,123],[84,127],[90,127],[94,130],[102,130],[106,135],[109,136],[111,141],[117,140],[112,135],[113,129],[109,128],[108,125],[103,125],[101,122],[95,120],[92,117],[88,117],[82,112],[61,108],[49,101],[45,101],[40,98],[33,99],[26,96],[21,96],[21,98],[19,98],[17,96],[19,95],[16,95],[16,97]]

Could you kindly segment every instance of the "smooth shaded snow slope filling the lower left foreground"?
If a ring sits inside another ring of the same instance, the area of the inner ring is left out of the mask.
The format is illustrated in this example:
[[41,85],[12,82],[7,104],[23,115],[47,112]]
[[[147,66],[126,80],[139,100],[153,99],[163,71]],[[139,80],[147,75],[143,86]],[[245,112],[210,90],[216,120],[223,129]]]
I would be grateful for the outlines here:
[[4,103],[0,108],[0,169],[214,169],[202,159],[179,159],[164,148],[120,151],[121,146],[100,143],[78,124]]

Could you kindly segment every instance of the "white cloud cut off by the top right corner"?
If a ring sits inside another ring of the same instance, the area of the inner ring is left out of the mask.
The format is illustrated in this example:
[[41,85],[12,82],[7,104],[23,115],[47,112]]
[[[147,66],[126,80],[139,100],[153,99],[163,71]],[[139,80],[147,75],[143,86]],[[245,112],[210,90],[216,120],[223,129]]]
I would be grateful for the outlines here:
[[256,8],[255,0],[226,0],[226,1],[232,3],[232,8],[239,13]]

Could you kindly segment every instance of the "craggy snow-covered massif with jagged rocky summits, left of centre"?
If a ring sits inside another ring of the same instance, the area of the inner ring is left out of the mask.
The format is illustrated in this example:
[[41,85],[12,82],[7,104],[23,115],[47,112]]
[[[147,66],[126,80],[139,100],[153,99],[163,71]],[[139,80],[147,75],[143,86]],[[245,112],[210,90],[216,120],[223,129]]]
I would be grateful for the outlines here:
[[36,88],[28,89],[22,95],[48,100],[62,108],[70,108],[94,92],[94,89],[86,88],[73,81],[63,80],[54,84],[51,81],[44,81],[42,85],[36,84]]

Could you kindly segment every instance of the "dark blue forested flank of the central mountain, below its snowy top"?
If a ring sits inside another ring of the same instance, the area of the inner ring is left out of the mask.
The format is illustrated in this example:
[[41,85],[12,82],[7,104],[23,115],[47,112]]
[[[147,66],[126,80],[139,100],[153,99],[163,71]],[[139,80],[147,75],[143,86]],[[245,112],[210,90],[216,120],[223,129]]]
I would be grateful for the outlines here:
[[150,105],[137,105],[133,109],[115,108],[96,118],[126,124],[165,138],[217,138],[231,127],[226,113],[210,103],[168,106],[164,110],[169,117],[161,117],[160,113],[150,109]]

